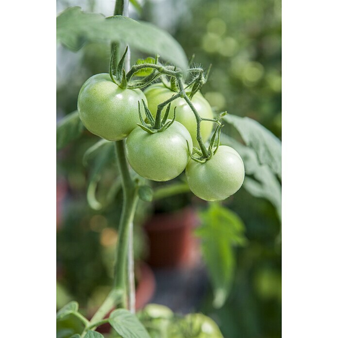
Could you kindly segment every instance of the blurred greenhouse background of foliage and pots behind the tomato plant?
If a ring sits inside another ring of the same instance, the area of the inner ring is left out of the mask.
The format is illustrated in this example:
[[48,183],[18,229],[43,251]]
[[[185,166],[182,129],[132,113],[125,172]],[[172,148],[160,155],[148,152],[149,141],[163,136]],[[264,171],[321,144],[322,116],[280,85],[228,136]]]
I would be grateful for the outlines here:
[[[130,6],[131,17],[168,31],[204,68],[212,64],[202,93],[215,113],[253,118],[281,137],[280,0],[139,3],[141,8]],[[108,0],[58,0],[57,11],[76,5],[105,16],[114,11],[114,1]],[[132,62],[143,56],[132,50]],[[57,47],[57,120],[77,109],[82,84],[107,72],[109,57],[110,46],[103,43],[76,53]],[[237,137],[229,127],[222,133]],[[76,300],[87,316],[112,285],[121,211],[114,148],[108,144],[83,161],[97,141],[85,132],[57,154],[57,306]],[[179,314],[202,312],[224,337],[281,337],[276,209],[243,187],[214,207],[189,192],[140,202],[134,235],[136,306],[158,303]],[[238,240],[216,245],[212,236],[217,240],[224,229]],[[225,270],[219,269],[223,261]]]

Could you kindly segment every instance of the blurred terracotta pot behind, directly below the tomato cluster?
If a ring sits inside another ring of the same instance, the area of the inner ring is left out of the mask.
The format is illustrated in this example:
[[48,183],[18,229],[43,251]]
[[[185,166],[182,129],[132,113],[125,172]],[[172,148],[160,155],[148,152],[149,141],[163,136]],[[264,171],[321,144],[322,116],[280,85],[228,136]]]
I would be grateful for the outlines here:
[[154,267],[188,264],[194,248],[192,229],[197,222],[197,215],[191,207],[153,215],[144,225],[149,238],[147,262]]

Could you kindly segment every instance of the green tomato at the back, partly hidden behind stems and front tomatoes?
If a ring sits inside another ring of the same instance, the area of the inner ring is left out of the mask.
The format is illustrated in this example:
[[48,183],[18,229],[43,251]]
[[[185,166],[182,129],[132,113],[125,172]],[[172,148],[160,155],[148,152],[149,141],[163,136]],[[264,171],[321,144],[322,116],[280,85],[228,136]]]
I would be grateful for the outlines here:
[[[172,95],[176,94],[176,92],[167,88],[164,84],[152,84],[145,91],[144,94],[148,100],[148,108],[152,113],[152,116],[156,116],[157,105],[167,101],[171,98]],[[213,113],[208,101],[206,101],[201,92],[197,92],[192,100],[192,104],[196,108],[197,112],[201,116],[201,118],[213,118]],[[188,132],[190,133],[193,145],[198,146],[198,142],[196,139],[196,130],[197,123],[194,113],[191,108],[186,103],[185,99],[178,98],[171,102],[169,118],[174,117],[174,108],[176,107],[176,121],[182,123]],[[167,106],[162,110],[162,116],[166,111]],[[201,122],[201,136],[203,142],[205,142],[212,132],[213,123],[210,121],[202,121]]]

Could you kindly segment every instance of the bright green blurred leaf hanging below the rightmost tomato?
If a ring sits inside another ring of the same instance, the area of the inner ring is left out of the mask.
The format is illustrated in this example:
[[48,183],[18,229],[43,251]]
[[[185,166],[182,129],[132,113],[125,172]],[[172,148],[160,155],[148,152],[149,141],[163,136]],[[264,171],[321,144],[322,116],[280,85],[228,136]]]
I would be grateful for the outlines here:
[[210,203],[200,212],[201,226],[195,234],[201,238],[203,259],[209,270],[214,291],[214,306],[226,301],[236,267],[235,246],[246,243],[244,224],[240,218],[218,203]]

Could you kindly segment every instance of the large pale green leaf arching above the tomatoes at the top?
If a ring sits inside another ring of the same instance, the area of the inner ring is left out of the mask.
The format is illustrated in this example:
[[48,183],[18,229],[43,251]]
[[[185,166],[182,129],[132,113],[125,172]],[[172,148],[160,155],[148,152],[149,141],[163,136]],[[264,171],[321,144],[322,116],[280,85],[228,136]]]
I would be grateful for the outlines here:
[[56,18],[56,37],[73,51],[78,51],[88,41],[122,41],[139,51],[159,54],[182,69],[187,68],[186,54],[170,34],[151,23],[129,17],[104,18],[101,14],[84,13],[80,7],[70,7]]

